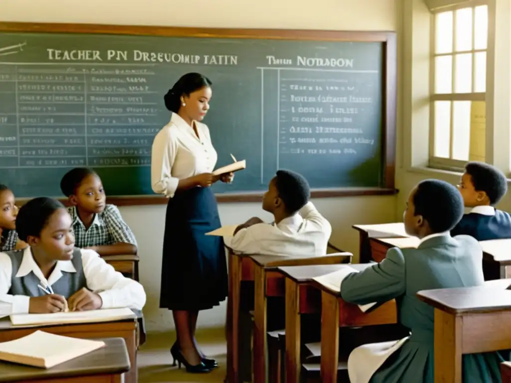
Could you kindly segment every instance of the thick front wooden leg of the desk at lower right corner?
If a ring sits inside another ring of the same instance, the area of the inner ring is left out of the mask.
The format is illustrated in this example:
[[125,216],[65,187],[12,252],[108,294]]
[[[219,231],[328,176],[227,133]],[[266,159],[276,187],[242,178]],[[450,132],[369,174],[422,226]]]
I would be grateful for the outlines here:
[[463,320],[435,308],[435,381],[461,383],[461,345]]

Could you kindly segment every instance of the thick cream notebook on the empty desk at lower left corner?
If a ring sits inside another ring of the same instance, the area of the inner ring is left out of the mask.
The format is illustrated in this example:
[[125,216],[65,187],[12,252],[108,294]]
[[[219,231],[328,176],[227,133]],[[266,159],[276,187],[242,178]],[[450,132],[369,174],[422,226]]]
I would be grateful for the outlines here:
[[78,356],[105,347],[102,341],[69,338],[44,331],[0,343],[0,360],[51,368]]

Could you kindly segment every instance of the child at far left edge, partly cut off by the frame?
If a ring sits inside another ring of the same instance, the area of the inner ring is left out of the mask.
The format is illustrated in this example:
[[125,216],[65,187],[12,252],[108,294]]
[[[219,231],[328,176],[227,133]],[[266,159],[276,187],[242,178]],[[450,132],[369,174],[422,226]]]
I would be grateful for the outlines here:
[[15,205],[14,193],[6,185],[0,184],[0,251],[25,249],[28,245],[20,241],[16,232],[16,216],[18,207]]

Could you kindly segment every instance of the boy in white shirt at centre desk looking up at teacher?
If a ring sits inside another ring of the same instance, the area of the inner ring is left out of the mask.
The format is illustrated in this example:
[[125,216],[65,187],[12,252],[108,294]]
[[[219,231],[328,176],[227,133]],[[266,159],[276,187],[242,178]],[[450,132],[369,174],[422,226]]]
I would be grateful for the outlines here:
[[277,171],[263,197],[263,209],[275,221],[267,224],[251,218],[237,227],[230,248],[244,254],[326,255],[332,227],[309,198],[309,183],[303,176]]

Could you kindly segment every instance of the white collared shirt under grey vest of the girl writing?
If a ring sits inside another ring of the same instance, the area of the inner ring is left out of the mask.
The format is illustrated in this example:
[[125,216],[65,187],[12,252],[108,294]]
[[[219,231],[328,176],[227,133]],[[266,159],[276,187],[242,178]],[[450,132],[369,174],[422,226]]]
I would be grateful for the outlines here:
[[[101,297],[101,308],[128,307],[142,310],[146,304],[146,293],[143,286],[108,265],[94,250],[81,249],[82,265],[87,288]],[[24,277],[31,272],[42,282],[42,285],[53,285],[62,277],[62,271],[76,273],[71,260],[58,260],[48,280],[44,278],[37,266],[30,247],[23,252],[23,259],[15,277]],[[25,295],[7,294],[11,288],[12,262],[6,253],[0,253],[0,315],[28,314],[30,297]],[[48,282],[48,283],[45,283]]]

